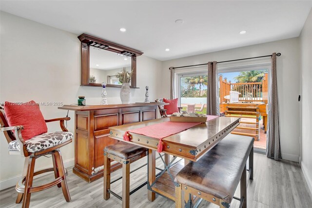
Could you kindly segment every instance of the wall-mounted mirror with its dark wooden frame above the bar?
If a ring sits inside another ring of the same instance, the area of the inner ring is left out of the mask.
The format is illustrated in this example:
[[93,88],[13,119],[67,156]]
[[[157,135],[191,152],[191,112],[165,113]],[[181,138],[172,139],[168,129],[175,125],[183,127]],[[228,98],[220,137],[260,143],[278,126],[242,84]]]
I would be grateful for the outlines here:
[[133,70],[130,87],[137,88],[137,56],[143,53],[90,35],[78,36],[81,41],[82,86],[121,87],[117,72]]

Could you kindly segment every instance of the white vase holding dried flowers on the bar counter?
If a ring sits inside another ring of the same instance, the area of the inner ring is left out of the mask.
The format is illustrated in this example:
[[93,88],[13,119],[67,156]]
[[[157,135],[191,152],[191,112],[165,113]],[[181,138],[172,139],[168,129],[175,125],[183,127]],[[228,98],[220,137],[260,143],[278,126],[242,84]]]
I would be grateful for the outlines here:
[[118,78],[121,84],[120,90],[120,99],[122,104],[130,104],[130,80],[132,77],[133,70],[128,72],[127,69],[124,67],[122,71],[117,72],[116,77]]

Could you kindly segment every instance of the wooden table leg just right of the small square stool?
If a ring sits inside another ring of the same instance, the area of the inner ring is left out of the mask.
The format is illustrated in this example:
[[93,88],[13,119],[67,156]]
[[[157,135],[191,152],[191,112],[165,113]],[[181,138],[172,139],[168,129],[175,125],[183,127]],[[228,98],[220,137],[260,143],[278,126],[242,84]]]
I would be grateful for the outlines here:
[[[148,150],[148,183],[150,185],[156,179],[156,152],[155,150],[149,149]],[[153,202],[155,200],[155,192],[148,190],[147,198],[148,201]]]

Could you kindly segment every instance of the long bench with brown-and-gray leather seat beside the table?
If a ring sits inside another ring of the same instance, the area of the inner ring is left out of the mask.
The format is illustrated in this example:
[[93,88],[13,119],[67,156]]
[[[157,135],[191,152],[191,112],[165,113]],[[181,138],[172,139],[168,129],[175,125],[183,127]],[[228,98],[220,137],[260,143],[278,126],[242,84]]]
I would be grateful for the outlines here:
[[[240,200],[240,208],[247,208],[246,163],[249,157],[249,179],[253,179],[253,146],[252,137],[228,135],[199,161],[181,169],[175,179],[176,208],[196,207],[202,199],[229,208],[233,198]],[[240,199],[234,197],[239,182]]]

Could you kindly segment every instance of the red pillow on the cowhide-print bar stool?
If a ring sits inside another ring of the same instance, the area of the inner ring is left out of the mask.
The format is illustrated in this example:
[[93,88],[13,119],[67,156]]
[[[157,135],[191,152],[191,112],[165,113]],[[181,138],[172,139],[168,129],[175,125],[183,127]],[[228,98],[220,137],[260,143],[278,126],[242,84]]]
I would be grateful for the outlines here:
[[10,126],[24,126],[24,130],[21,131],[24,140],[29,140],[48,131],[39,105],[35,101],[23,104],[5,102],[4,111]]

